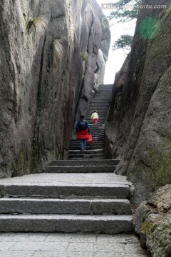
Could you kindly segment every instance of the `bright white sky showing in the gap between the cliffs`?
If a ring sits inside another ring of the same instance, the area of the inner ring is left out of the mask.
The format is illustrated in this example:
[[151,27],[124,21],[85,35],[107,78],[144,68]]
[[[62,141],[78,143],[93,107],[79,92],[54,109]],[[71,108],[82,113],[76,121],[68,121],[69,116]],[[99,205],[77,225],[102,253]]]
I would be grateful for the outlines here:
[[[96,0],[98,4],[101,6],[101,4],[105,3],[115,3],[117,0]],[[110,11],[112,10],[106,10],[103,9],[103,13],[105,16],[108,16],[110,14]],[[115,11],[115,10],[113,10]],[[111,24],[113,24],[114,21],[111,21]],[[112,51],[112,46],[115,44],[115,41],[120,37],[120,35],[123,34],[130,34],[133,36],[135,31],[135,20],[125,22],[125,23],[119,23],[114,24],[110,27],[110,33],[111,33],[111,44],[110,44],[110,50],[109,50],[109,56],[108,61],[105,66],[105,78],[104,78],[104,84],[113,84],[115,79],[115,73],[120,70],[121,66],[123,65],[123,61],[125,60],[126,53],[124,53],[123,49],[118,49],[115,51]]]

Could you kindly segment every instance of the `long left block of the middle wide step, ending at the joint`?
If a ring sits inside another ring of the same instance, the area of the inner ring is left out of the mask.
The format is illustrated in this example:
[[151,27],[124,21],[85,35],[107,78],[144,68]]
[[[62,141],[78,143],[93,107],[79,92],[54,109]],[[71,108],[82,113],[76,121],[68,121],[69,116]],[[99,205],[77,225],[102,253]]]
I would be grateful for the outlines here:
[[0,213],[88,214],[90,201],[84,199],[1,198]]

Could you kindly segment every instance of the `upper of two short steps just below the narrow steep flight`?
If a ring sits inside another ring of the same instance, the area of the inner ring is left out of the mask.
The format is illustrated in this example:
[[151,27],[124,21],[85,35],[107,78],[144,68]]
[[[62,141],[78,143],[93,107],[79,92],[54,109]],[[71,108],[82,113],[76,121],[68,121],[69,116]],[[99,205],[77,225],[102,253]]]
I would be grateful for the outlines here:
[[70,160],[54,160],[49,163],[49,166],[115,166],[120,162],[117,159],[103,159],[103,160],[83,160],[83,161],[70,161]]

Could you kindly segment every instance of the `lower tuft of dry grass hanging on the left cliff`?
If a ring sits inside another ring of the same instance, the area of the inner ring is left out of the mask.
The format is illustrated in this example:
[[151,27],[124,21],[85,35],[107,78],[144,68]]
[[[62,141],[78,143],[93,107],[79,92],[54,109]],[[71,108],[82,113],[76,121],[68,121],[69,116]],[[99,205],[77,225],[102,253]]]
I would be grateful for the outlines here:
[[54,39],[51,44],[51,54],[50,54],[50,70],[56,71],[58,64],[63,58],[63,45],[58,39]]

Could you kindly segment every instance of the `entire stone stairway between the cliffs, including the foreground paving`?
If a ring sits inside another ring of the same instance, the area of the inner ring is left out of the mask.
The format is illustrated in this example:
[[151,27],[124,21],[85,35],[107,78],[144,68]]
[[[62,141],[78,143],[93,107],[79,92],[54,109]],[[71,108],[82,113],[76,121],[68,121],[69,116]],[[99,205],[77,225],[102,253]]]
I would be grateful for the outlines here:
[[93,148],[82,154],[72,141],[69,159],[51,161],[45,173],[0,180],[0,232],[13,232],[0,234],[0,256],[146,256],[133,235],[131,184],[113,173],[119,160],[103,159],[111,90],[106,97],[100,86],[88,109],[100,115],[90,123]]

